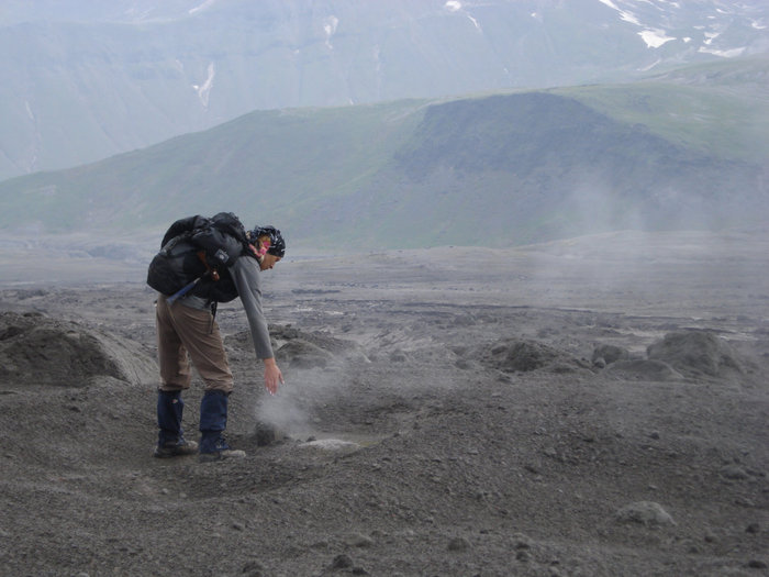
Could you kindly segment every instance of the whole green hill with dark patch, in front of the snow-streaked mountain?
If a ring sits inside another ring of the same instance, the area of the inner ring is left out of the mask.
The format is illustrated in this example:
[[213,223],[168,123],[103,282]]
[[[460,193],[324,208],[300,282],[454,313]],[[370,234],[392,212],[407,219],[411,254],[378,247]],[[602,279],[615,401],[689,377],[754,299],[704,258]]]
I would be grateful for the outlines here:
[[[253,112],[0,182],[0,232],[159,232],[232,210],[337,251],[769,222],[769,58],[626,85]],[[702,78],[717,81],[703,84]]]

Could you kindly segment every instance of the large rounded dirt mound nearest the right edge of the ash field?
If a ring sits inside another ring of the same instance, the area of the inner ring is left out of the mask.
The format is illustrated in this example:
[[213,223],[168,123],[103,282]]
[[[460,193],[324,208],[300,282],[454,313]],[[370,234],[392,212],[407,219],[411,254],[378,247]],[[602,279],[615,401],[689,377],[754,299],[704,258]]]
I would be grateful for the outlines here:
[[721,377],[744,371],[729,344],[706,331],[668,333],[646,353],[649,359],[667,363],[686,376]]

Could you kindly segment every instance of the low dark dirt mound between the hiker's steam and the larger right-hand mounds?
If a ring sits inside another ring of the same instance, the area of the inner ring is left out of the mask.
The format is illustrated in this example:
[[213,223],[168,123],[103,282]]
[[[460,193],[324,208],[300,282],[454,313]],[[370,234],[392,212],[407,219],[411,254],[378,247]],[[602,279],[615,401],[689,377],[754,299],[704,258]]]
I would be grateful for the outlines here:
[[480,355],[481,362],[503,373],[527,373],[545,367],[564,371],[567,367],[578,368],[582,364],[575,357],[535,341],[503,339],[492,344]]

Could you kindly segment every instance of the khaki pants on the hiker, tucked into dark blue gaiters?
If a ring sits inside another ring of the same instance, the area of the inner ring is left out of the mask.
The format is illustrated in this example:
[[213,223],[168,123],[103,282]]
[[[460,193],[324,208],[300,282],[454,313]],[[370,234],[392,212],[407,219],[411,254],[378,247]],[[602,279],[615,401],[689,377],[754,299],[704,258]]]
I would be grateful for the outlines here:
[[[157,299],[157,353],[160,363],[160,390],[188,389],[192,380],[190,362],[205,381],[205,390],[232,392],[233,378],[219,325],[209,311],[168,304]],[[189,358],[188,358],[189,354]]]

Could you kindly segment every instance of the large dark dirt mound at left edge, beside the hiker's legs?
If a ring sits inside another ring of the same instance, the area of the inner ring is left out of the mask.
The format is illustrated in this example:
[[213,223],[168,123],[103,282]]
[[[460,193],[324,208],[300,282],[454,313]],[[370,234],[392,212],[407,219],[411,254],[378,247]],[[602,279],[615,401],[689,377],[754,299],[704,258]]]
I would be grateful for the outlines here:
[[133,343],[40,313],[0,314],[0,382],[85,387],[94,377],[140,384],[155,363]]

